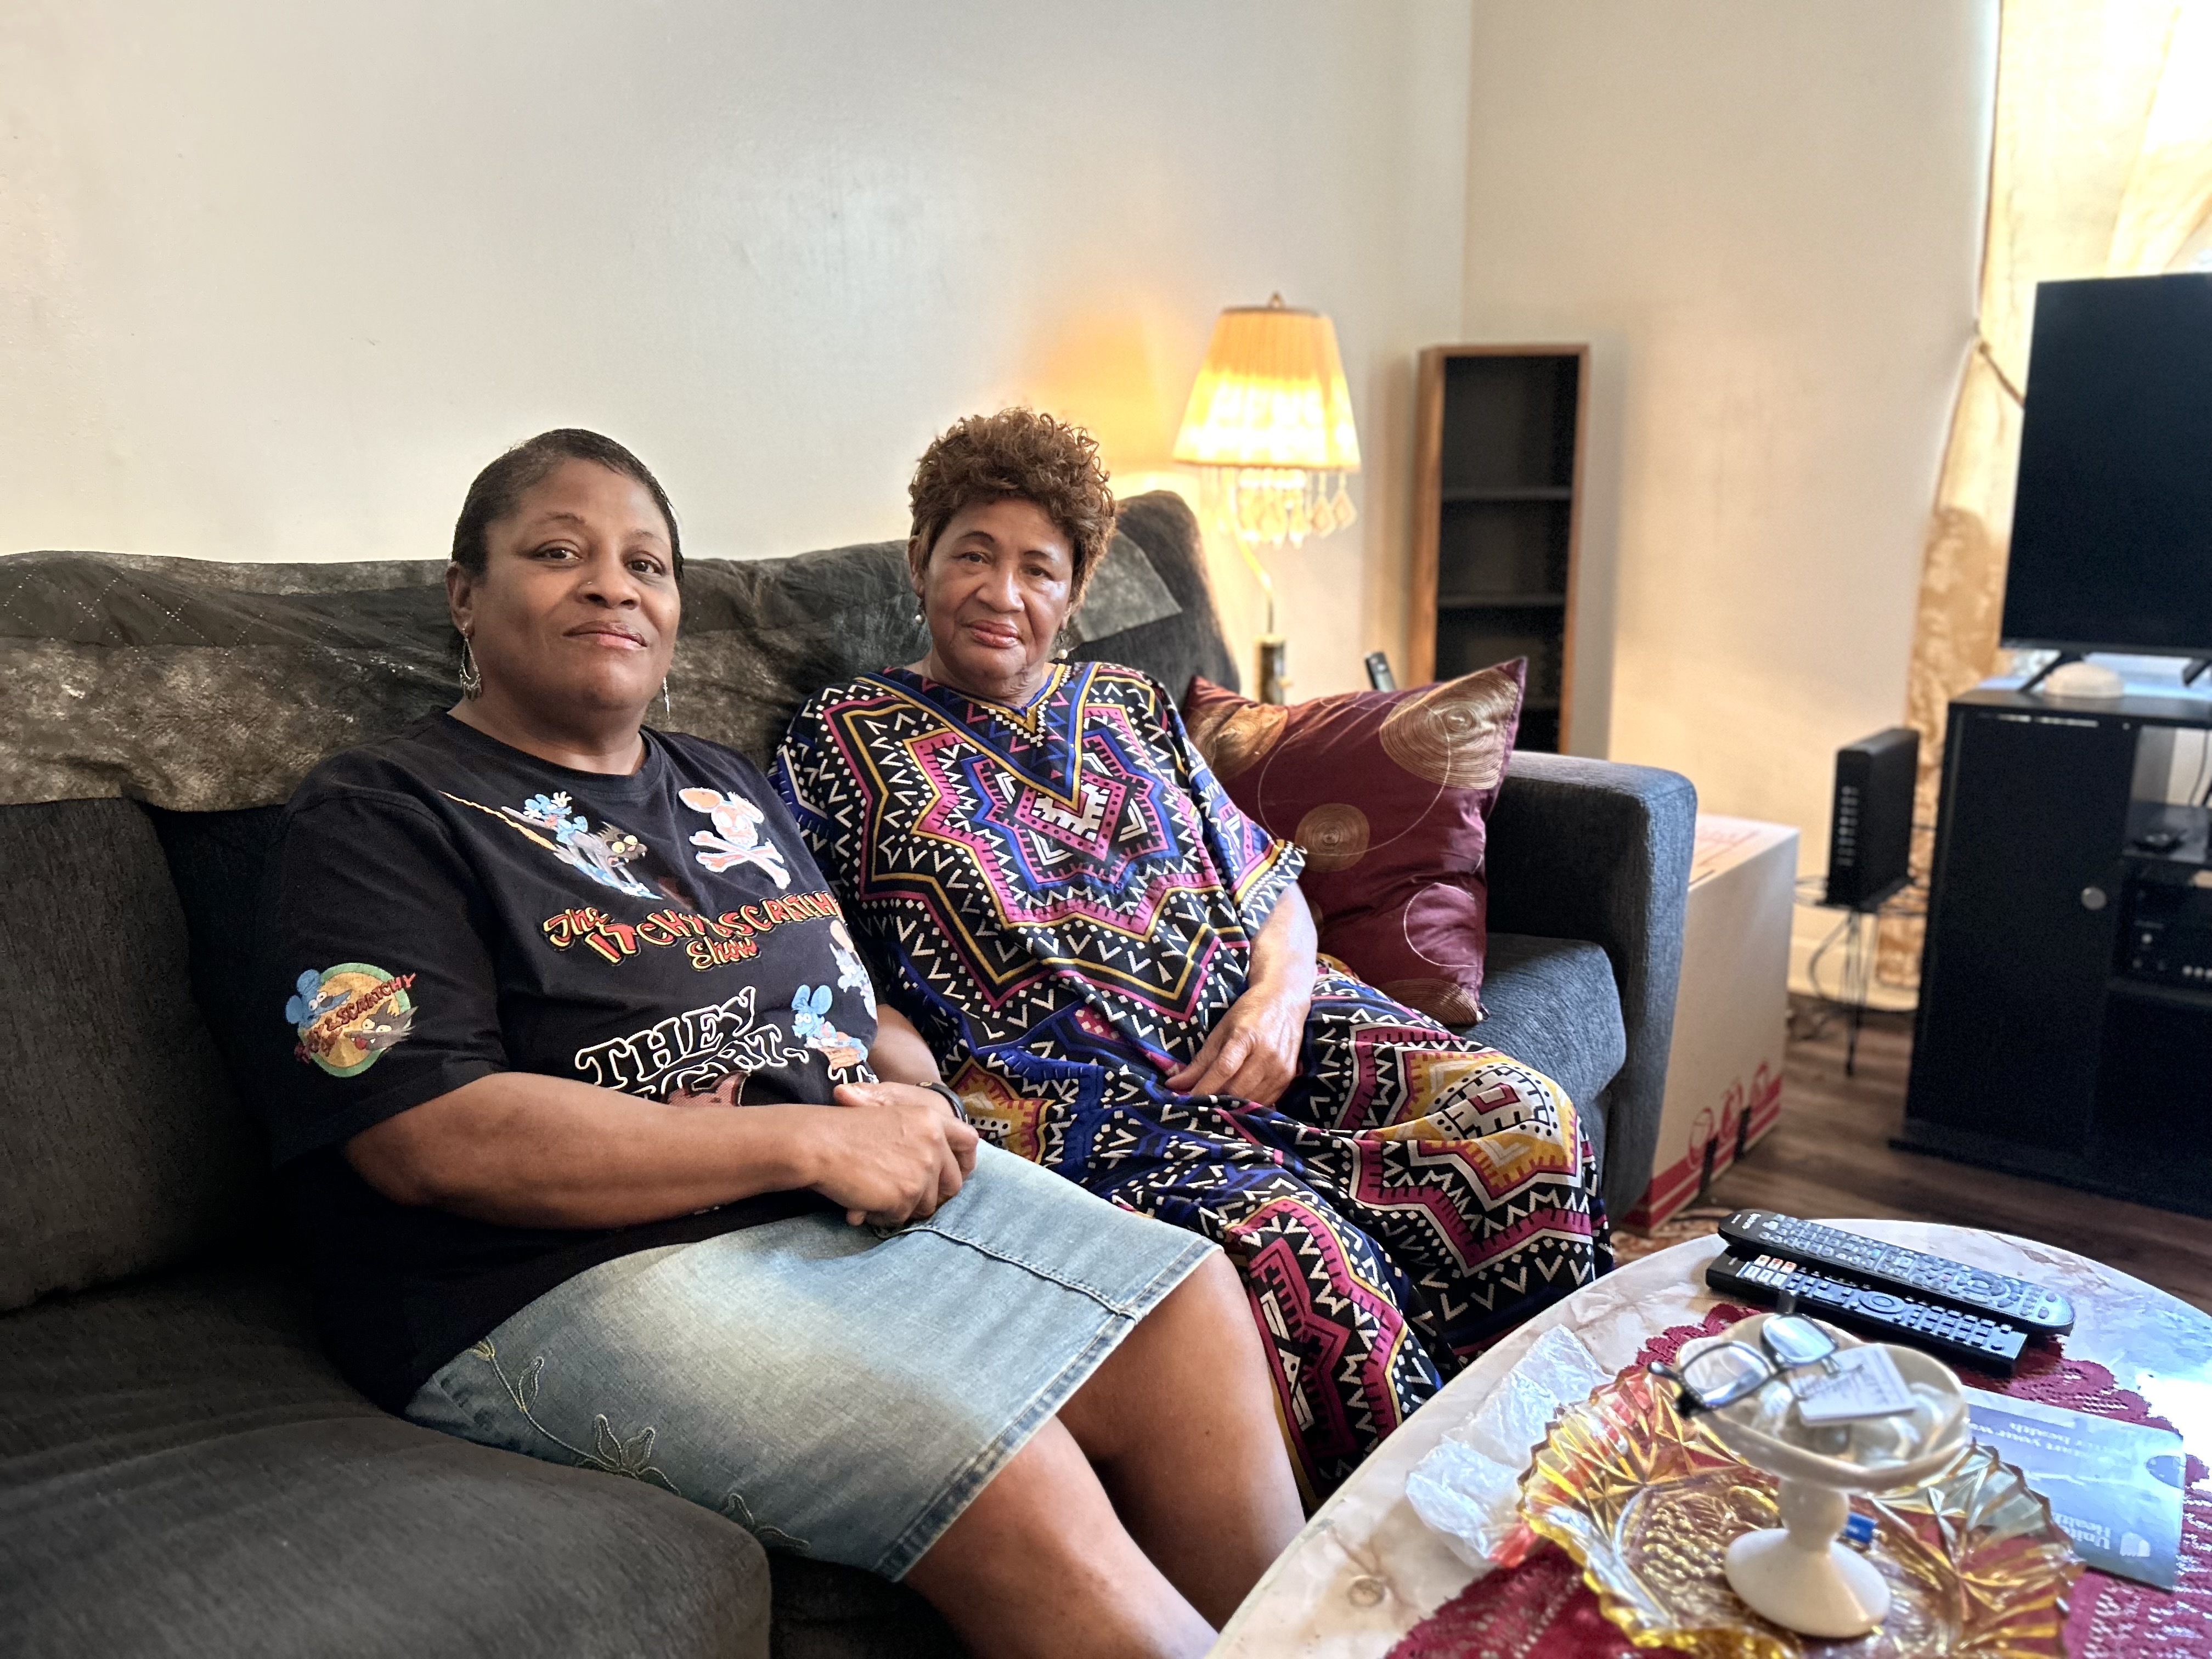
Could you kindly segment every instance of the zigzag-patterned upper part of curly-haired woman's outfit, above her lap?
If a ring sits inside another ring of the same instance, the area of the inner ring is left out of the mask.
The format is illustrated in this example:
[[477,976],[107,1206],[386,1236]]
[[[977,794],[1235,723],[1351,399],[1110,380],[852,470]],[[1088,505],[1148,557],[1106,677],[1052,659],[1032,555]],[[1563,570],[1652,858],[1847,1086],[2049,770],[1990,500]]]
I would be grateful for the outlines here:
[[[1250,947],[1241,911],[1212,902],[1223,856],[1250,894],[1287,849],[1228,805],[1194,750],[1161,776],[1161,703],[1110,664],[1055,666],[1020,712],[905,670],[867,675],[801,710],[776,781],[812,843],[858,852],[841,898],[889,947],[872,967],[971,984],[978,1046],[1064,1006],[1051,980],[1073,949],[1102,1018],[1166,1053],[1219,1018],[1219,958]],[[1237,830],[1223,836],[1199,801]]]

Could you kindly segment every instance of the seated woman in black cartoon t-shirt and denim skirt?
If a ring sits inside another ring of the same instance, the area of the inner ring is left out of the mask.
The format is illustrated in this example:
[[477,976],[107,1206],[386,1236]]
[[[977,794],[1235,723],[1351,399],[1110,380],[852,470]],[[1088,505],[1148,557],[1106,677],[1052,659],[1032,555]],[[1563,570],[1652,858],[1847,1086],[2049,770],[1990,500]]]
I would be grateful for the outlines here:
[[975,1652],[1199,1652],[1298,1526],[1239,1281],[978,1146],[768,781],[641,728],[681,571],[626,449],[509,451],[453,531],[462,701],[285,810],[259,1084],[325,1338]]

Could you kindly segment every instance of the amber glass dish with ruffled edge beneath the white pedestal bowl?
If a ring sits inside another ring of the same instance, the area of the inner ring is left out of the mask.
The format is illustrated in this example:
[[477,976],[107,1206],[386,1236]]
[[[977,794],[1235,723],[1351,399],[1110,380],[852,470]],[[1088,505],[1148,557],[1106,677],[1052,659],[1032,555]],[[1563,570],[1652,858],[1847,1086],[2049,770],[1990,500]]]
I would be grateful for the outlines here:
[[1670,1383],[1628,1371],[1566,1407],[1522,1478],[1528,1526],[1559,1544],[1606,1617],[1639,1648],[1701,1659],[2062,1659],[2066,1590],[2081,1573],[2051,1509],[2020,1471],[1966,1444],[1920,1491],[1863,1498],[1865,1559],[1889,1613],[1865,1637],[1823,1641],[1754,1615],[1723,1557],[1776,1526],[1778,1482],[1747,1467]]

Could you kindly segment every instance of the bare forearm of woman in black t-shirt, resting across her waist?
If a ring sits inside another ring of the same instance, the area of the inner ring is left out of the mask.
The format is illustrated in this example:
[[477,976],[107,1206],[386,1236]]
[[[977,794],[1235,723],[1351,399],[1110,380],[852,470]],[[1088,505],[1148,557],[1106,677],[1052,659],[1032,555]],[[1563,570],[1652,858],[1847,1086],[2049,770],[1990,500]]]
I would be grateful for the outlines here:
[[823,1179],[836,1106],[668,1106],[504,1071],[347,1141],[398,1203],[513,1228],[624,1228]]

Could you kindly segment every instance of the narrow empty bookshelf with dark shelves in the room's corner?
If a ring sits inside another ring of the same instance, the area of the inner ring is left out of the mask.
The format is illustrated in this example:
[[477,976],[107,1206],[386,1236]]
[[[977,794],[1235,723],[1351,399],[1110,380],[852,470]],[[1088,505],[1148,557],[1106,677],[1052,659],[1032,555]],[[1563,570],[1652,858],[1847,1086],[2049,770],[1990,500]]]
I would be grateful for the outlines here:
[[1411,684],[1528,659],[1517,748],[1564,752],[1586,345],[1431,345],[1413,456]]

